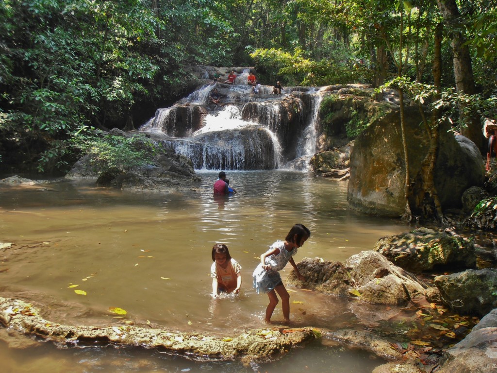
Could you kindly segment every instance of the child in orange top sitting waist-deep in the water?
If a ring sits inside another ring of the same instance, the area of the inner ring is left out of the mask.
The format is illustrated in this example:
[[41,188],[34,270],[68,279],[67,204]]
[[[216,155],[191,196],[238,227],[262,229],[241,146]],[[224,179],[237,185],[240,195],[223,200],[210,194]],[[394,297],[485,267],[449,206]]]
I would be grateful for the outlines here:
[[240,292],[242,285],[242,267],[230,255],[230,251],[225,244],[216,244],[212,248],[212,297],[219,297],[219,292],[235,293]]

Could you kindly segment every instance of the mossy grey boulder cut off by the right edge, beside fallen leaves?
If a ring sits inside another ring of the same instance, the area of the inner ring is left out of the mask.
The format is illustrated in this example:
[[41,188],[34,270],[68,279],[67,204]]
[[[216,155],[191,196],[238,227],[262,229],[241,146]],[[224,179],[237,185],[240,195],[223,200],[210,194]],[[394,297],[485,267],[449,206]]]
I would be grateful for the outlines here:
[[460,314],[483,316],[497,308],[497,269],[437,276],[434,284],[443,301]]

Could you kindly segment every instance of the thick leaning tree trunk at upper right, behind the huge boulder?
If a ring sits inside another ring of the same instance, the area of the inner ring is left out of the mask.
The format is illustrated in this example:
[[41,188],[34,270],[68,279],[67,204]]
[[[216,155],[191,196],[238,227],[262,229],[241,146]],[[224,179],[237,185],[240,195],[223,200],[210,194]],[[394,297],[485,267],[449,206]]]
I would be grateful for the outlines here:
[[[437,0],[437,4],[447,28],[451,30],[450,35],[452,37],[451,46],[454,55],[453,65],[456,90],[460,93],[475,94],[475,79],[471,66],[471,56],[469,48],[466,45],[466,35],[463,31],[464,22],[461,18],[456,0]],[[467,127],[463,129],[462,134],[473,141],[480,151],[484,153],[484,136],[480,118],[476,116],[469,118],[461,117],[461,120],[467,124]]]

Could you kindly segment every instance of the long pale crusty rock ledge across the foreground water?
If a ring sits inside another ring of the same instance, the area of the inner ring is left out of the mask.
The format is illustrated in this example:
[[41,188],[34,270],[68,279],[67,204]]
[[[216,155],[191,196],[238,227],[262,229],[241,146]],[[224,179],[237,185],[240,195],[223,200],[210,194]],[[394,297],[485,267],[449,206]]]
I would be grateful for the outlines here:
[[[10,337],[29,336],[64,348],[140,346],[192,360],[241,360],[245,363],[278,360],[292,347],[320,336],[320,332],[313,328],[268,327],[231,338],[172,333],[134,325],[69,326],[43,319],[39,310],[30,303],[3,297],[0,297],[0,323]],[[4,335],[1,333],[0,338],[5,339]]]

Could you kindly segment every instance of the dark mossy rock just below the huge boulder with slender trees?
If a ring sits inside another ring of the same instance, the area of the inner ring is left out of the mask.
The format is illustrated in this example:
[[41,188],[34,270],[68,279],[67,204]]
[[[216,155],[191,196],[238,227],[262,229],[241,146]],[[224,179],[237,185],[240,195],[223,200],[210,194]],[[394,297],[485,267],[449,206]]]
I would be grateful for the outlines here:
[[411,272],[428,271],[434,267],[467,269],[476,266],[473,241],[428,228],[383,237],[373,250],[383,254],[396,266]]

